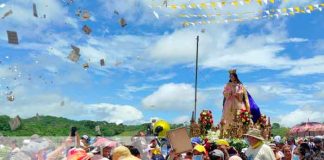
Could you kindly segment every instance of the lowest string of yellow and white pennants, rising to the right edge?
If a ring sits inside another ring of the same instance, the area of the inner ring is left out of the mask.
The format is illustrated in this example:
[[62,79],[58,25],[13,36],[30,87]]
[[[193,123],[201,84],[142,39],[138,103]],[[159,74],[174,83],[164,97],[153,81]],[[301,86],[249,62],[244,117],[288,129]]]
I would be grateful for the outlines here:
[[[250,17],[236,17],[236,18],[229,18],[223,20],[201,20],[201,21],[185,21],[183,22],[184,27],[188,26],[195,26],[195,25],[205,25],[205,24],[223,24],[223,23],[230,23],[230,22],[243,22],[249,20],[261,20],[266,18],[279,18],[281,16],[293,16],[295,14],[311,14],[313,11],[322,11],[324,7],[324,3],[322,4],[314,4],[314,5],[307,5],[305,7],[289,7],[289,8],[281,8],[281,9],[273,9],[273,10],[265,10],[265,14],[260,15],[253,15]],[[207,16],[208,17],[208,16]]]

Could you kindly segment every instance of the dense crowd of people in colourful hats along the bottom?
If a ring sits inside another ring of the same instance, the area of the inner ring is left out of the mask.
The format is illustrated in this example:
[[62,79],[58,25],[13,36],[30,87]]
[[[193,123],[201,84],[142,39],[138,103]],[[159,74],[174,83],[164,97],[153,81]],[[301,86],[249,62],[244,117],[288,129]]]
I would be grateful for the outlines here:
[[104,137],[69,136],[59,146],[49,139],[32,136],[22,144],[0,138],[0,160],[323,160],[323,137],[281,138],[266,141],[257,129],[244,135],[248,147],[231,146],[227,140],[210,142],[191,138],[192,150],[177,153],[166,138],[139,132],[130,144]]

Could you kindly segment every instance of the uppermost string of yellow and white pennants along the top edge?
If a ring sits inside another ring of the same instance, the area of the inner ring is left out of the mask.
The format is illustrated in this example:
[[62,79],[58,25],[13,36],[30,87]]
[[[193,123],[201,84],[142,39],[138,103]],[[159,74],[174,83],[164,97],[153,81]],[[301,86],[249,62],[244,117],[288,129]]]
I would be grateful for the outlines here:
[[151,5],[151,8],[170,8],[170,9],[217,9],[224,8],[226,6],[244,6],[250,5],[253,3],[257,3],[260,6],[268,5],[268,4],[276,4],[276,2],[289,2],[289,0],[232,0],[232,1],[213,1],[213,2],[202,2],[202,3],[186,3],[186,4],[170,4],[167,2],[163,2],[162,5]]

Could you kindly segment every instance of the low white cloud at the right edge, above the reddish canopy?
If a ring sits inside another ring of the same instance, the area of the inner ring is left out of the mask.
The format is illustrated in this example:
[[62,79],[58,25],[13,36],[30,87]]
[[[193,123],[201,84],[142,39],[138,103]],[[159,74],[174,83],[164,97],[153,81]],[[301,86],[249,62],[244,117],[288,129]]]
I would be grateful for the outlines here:
[[301,107],[288,114],[283,114],[278,116],[279,123],[292,127],[301,122],[315,121],[315,122],[324,122],[323,110],[324,107]]

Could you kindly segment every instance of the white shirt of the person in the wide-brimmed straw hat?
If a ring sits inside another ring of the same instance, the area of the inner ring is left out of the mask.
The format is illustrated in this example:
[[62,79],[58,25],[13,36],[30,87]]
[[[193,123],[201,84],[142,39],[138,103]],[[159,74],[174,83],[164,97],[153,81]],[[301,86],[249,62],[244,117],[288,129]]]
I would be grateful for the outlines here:
[[262,144],[256,149],[249,147],[245,154],[248,160],[276,160],[272,149],[266,144]]

